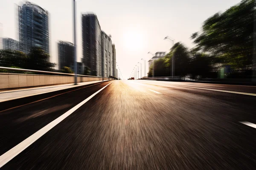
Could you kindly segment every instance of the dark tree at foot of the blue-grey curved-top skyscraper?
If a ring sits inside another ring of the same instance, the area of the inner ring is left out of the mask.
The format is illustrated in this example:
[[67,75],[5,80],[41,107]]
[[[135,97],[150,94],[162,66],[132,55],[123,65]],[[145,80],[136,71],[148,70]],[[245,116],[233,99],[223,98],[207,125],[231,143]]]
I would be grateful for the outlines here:
[[55,71],[54,67],[56,64],[49,62],[49,54],[45,53],[41,48],[32,48],[28,56],[28,69],[40,71]]

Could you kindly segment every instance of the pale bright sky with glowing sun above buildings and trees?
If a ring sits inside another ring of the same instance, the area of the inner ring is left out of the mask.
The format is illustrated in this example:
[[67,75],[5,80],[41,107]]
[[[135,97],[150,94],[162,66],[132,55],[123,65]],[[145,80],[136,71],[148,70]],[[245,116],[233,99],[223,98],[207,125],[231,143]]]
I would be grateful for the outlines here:
[[[1,0],[0,36],[18,40],[15,4],[22,5],[23,2],[25,1]],[[58,63],[57,41],[73,42],[73,0],[30,2],[49,11],[51,62]],[[112,42],[116,45],[116,62],[123,78],[127,79],[137,62],[141,62],[140,59],[148,61],[151,58],[148,51],[169,51],[172,42],[163,40],[165,36],[191,48],[193,44],[190,36],[201,29],[204,20],[239,2],[240,0],[76,0],[78,61],[82,57],[82,12],[96,14],[102,30],[111,34]],[[148,63],[146,68],[148,71]],[[144,74],[144,68],[142,70]]]

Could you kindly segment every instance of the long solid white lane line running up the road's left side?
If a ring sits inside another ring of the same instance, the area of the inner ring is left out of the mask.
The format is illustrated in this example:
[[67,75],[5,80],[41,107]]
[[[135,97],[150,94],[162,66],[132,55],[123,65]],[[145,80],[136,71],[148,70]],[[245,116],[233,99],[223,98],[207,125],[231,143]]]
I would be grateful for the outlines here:
[[[111,83],[109,83],[108,85],[110,85]],[[25,150],[27,147],[29,147],[29,145],[34,143],[36,140],[38,140],[41,136],[43,136],[45,133],[47,133],[53,127],[58,125],[58,123],[60,123],[62,120],[64,120],[67,116],[70,116],[70,114],[72,114],[74,111],[76,111],[82,105],[84,105],[84,103],[88,102],[88,100],[93,98],[93,96],[98,94],[100,91],[102,91],[108,85],[104,86],[102,89],[100,89],[99,91],[95,92],[90,97],[88,97],[87,99],[85,99],[84,101],[82,101],[81,103],[76,105],[75,107],[71,108],[69,111],[67,111],[63,115],[59,116],[57,119],[53,120],[48,125],[46,125],[45,127],[41,128],[36,133],[32,134],[27,139],[23,140],[22,142],[17,144],[15,147],[13,147],[12,149],[8,150],[6,153],[1,155],[0,156],[0,167],[3,167],[3,165],[5,165],[10,160],[12,160],[15,156],[17,156],[19,153],[21,153],[23,150]]]

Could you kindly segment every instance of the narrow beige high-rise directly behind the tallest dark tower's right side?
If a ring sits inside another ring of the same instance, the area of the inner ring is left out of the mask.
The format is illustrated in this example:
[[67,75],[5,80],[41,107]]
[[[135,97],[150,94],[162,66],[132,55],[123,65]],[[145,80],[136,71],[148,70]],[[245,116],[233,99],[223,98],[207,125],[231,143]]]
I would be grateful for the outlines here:
[[102,31],[102,75],[103,77],[113,76],[113,52],[112,40]]

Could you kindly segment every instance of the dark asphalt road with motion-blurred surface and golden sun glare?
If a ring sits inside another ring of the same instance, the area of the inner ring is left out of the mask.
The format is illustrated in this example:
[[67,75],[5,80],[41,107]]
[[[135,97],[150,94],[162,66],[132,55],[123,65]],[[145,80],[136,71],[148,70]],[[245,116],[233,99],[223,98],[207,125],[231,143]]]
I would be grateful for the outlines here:
[[255,170],[256,128],[241,123],[253,126],[255,114],[256,87],[103,82],[0,112],[0,158],[10,159],[0,169]]

